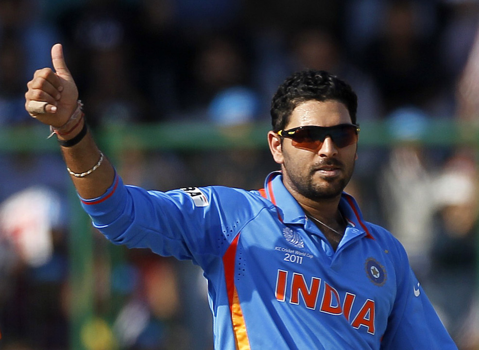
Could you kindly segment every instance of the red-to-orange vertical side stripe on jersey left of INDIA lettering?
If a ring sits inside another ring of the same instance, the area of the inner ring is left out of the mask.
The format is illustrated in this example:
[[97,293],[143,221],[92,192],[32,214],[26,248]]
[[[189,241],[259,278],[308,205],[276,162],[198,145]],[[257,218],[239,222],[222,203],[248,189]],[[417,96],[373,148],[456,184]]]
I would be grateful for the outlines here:
[[235,286],[235,257],[238,247],[239,235],[235,237],[231,245],[223,255],[224,278],[226,280],[226,292],[228,293],[231,321],[233,323],[233,333],[235,334],[236,349],[249,350],[250,343],[246,324],[244,322],[243,311],[239,302],[238,291]]

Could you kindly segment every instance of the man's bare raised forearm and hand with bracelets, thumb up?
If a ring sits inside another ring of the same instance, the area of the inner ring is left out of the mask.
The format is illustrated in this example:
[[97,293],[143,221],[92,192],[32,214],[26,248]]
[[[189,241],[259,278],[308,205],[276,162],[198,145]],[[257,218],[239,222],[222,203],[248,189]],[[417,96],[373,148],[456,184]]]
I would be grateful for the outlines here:
[[28,82],[25,108],[33,118],[51,125],[80,196],[96,198],[112,185],[114,169],[86,126],[78,89],[65,63],[61,44],[51,48],[51,60],[55,71],[37,70]]

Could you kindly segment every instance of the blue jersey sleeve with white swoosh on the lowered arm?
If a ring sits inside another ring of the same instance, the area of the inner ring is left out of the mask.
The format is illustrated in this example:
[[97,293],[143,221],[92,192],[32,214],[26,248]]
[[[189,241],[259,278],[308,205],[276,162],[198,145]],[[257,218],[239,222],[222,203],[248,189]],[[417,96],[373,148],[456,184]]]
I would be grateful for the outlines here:
[[381,350],[457,350],[414,275],[402,245],[398,250],[400,270],[396,272],[396,299],[381,341]]

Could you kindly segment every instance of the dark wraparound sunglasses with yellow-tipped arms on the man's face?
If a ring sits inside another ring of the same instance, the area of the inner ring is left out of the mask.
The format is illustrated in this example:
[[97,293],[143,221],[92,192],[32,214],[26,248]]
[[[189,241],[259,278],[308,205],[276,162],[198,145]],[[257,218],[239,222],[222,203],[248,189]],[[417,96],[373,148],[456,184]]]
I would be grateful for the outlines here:
[[292,140],[292,145],[309,151],[318,151],[326,137],[338,148],[349,146],[358,141],[359,125],[339,124],[334,126],[300,126],[290,130],[279,130],[278,135]]

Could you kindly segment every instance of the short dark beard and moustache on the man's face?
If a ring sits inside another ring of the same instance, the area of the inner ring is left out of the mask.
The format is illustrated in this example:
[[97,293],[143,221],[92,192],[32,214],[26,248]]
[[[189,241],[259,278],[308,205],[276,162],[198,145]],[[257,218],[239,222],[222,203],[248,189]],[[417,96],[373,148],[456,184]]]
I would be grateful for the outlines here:
[[[318,179],[317,169],[321,166],[337,166],[344,173],[338,177],[323,177]],[[290,184],[294,190],[304,197],[317,201],[324,199],[333,199],[341,195],[344,188],[349,183],[353,175],[355,161],[351,166],[346,167],[337,159],[328,159],[321,163],[315,164],[308,172],[304,171],[301,166],[291,166],[284,163],[283,174],[290,179]]]

